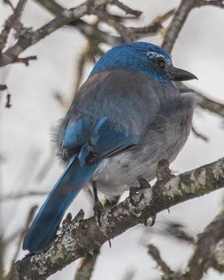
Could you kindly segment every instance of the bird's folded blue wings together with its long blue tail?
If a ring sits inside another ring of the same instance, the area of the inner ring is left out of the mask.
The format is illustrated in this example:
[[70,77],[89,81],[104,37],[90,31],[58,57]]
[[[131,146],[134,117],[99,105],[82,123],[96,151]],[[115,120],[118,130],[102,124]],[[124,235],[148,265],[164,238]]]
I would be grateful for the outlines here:
[[139,143],[140,137],[112,124],[108,118],[96,125],[91,120],[78,120],[67,127],[63,148],[73,156],[52,189],[25,237],[23,249],[38,252],[47,248],[55,236],[64,212],[104,158],[122,153]]

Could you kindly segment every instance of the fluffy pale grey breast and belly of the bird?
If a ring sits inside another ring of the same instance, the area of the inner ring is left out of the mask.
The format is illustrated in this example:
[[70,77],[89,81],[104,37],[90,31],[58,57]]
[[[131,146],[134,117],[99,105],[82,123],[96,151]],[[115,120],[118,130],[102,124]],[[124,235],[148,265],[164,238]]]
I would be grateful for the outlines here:
[[199,101],[190,93],[170,99],[148,125],[141,144],[132,151],[102,161],[92,177],[98,189],[111,198],[130,186],[139,186],[139,176],[148,181],[154,179],[158,162],[162,159],[172,162],[186,143],[195,104]]

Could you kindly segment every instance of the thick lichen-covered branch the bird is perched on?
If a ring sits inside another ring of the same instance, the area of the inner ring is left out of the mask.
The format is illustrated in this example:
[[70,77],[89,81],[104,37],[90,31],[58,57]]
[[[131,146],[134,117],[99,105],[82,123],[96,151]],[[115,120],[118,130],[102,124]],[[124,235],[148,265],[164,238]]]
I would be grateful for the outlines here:
[[[168,174],[168,181],[164,174]],[[102,214],[102,228],[94,217],[83,220],[81,210],[76,218],[66,218],[57,232],[54,244],[47,251],[27,255],[14,267],[13,279],[46,279],[73,260],[99,249],[108,239],[116,237],[134,225],[162,210],[224,186],[224,158],[193,171],[170,175],[160,166],[158,182],[134,197],[128,197]]]

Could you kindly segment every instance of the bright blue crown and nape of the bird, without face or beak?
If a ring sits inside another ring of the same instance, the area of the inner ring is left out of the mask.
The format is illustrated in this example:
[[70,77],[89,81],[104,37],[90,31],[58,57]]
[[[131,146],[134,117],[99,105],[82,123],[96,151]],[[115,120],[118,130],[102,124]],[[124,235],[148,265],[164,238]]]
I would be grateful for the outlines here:
[[159,80],[162,83],[172,84],[172,81],[162,73],[159,69],[151,63],[151,59],[148,57],[148,53],[157,53],[166,57],[166,59],[172,63],[172,59],[168,52],[145,42],[124,43],[116,47],[111,48],[106,52],[95,64],[90,76],[99,71],[108,69],[125,69],[130,71],[137,71],[148,77]]

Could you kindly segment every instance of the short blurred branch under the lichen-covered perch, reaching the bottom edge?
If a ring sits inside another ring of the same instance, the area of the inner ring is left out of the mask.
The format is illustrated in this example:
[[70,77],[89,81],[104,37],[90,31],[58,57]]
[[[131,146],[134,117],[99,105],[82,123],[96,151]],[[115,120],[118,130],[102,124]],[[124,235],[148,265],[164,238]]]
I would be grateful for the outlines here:
[[90,280],[98,255],[99,248],[92,253],[87,253],[87,255],[80,260],[74,280]]

